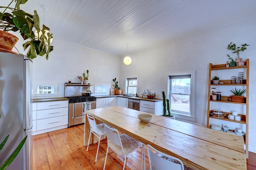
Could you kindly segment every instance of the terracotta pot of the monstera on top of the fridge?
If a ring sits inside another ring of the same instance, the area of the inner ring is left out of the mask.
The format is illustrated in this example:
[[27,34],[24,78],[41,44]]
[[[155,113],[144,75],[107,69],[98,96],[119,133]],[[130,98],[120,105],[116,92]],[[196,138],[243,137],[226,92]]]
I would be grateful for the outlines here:
[[18,37],[0,30],[0,48],[12,50],[18,40]]

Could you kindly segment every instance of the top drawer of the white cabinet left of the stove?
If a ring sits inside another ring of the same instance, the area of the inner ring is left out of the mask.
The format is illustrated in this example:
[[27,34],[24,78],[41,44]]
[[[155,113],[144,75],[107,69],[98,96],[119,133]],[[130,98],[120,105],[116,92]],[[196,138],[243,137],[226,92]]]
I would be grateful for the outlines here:
[[37,103],[37,110],[55,109],[60,107],[68,107],[68,101],[49,101]]

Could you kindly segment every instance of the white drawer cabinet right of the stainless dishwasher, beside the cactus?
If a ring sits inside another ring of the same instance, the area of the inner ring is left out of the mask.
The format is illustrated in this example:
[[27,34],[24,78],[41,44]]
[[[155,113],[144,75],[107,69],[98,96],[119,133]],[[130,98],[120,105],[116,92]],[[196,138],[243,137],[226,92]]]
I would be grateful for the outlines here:
[[163,102],[162,101],[140,101],[140,111],[151,113],[154,115],[161,115],[163,112]]

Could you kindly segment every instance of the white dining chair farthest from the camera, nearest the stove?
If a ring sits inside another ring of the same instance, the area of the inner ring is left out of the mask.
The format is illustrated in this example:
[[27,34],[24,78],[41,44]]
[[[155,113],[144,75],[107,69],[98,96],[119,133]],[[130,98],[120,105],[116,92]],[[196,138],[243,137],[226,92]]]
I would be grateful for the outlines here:
[[97,162],[98,151],[99,151],[99,146],[100,146],[100,138],[101,138],[101,136],[106,134],[106,130],[105,130],[105,127],[104,127],[105,123],[100,123],[100,124],[97,125],[94,117],[91,117],[91,116],[87,115],[87,118],[88,118],[88,122],[89,122],[89,125],[90,125],[90,134],[89,134],[89,139],[88,139],[86,152],[88,151],[90,137],[91,137],[91,134],[93,133],[93,134],[95,134],[95,136],[97,136],[99,138],[98,148],[97,148],[97,153],[96,153],[96,158],[95,158],[95,162]]

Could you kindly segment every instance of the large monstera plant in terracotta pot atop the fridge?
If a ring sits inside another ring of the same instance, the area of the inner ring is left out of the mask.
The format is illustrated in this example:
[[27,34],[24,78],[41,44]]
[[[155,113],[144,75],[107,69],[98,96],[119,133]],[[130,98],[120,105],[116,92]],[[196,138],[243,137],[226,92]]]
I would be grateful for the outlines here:
[[[39,16],[34,10],[34,15],[20,10],[21,4],[26,4],[28,0],[12,0],[8,6],[0,6],[4,8],[3,12],[0,12],[0,36],[4,36],[2,40],[5,40],[3,43],[12,42],[7,40],[7,37],[10,37],[8,31],[19,31],[20,35],[26,42],[23,43],[24,50],[28,47],[28,58],[36,58],[37,55],[43,56],[46,55],[46,59],[49,57],[49,53],[53,50],[53,46],[50,45],[50,40],[53,38],[52,34],[48,32],[50,28],[45,25],[40,28]],[[12,3],[15,3],[14,8],[10,7]],[[11,11],[8,13],[6,11]],[[7,35],[7,37],[6,37]],[[14,38],[16,42],[18,38]],[[15,43],[16,43],[15,42]],[[12,50],[13,45],[7,45],[7,50]],[[1,48],[6,47],[6,45],[0,45]]]

